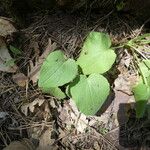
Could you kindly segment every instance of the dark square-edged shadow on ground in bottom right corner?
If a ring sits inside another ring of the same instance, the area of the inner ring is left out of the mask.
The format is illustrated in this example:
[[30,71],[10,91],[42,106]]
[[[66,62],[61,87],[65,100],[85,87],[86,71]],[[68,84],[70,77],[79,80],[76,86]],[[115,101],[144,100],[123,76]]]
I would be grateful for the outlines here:
[[[145,150],[150,149],[150,118],[146,111],[143,118],[137,119],[134,109],[128,109],[130,104],[120,104],[118,111],[119,122],[119,145],[123,149]],[[139,104],[142,105],[142,104]],[[150,106],[148,106],[150,108]],[[126,109],[126,110],[125,110]],[[128,110],[127,110],[128,109]],[[148,109],[147,109],[148,110]],[[124,113],[126,112],[126,113]],[[124,114],[123,114],[124,113]],[[122,122],[122,116],[128,118],[126,122]]]

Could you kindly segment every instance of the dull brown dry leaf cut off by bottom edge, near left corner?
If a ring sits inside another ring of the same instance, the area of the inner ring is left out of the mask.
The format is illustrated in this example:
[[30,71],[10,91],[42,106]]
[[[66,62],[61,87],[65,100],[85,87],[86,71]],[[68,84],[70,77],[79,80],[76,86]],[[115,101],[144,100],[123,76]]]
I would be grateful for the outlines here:
[[23,139],[22,141],[11,142],[3,150],[34,150],[33,144],[28,139]]

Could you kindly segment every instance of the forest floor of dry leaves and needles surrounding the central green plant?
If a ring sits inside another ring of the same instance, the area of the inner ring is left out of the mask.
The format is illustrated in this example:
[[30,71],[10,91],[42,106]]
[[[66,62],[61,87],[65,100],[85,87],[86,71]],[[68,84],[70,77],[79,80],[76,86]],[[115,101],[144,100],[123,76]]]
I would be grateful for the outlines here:
[[[131,87],[138,73],[133,56],[130,49],[119,47],[150,33],[147,22],[141,23],[128,13],[61,10],[50,15],[34,14],[28,17],[28,22],[26,28],[16,28],[15,33],[3,39],[8,49],[12,49],[11,45],[17,50],[9,51],[15,59],[15,68],[0,72],[0,149],[10,143],[16,150],[150,149],[150,122],[147,116],[141,119],[135,116]],[[58,101],[42,94],[37,77],[42,54],[47,56],[61,49],[68,57],[77,58],[91,31],[110,35],[112,46],[117,47],[117,59],[107,74],[112,88],[107,103],[95,116],[85,116],[71,99]],[[141,53],[150,58],[149,52]]]

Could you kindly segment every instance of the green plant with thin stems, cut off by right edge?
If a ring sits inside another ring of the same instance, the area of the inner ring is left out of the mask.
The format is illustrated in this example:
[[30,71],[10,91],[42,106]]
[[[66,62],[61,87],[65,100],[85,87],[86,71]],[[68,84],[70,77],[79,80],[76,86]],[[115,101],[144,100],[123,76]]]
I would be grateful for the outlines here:
[[[139,80],[133,87],[132,91],[136,100],[136,116],[137,118],[143,117],[148,101],[150,100],[150,59],[148,59],[139,50],[139,46],[144,46],[150,43],[150,34],[138,36],[125,44],[130,48],[134,56],[135,66],[139,72]],[[138,56],[142,56],[139,59]]]

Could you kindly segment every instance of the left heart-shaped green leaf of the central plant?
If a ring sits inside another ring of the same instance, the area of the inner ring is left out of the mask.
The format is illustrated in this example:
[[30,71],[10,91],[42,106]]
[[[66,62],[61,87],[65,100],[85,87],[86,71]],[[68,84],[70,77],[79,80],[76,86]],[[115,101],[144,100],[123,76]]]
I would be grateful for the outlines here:
[[54,51],[46,58],[41,70],[38,85],[42,88],[59,87],[72,81],[78,73],[73,59],[66,59],[63,52]]

